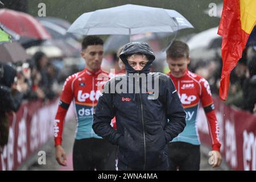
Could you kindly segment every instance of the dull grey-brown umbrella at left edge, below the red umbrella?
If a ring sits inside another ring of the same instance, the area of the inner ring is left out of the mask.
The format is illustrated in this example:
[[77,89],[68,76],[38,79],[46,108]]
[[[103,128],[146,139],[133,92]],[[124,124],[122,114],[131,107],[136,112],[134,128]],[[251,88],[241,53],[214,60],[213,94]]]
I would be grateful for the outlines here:
[[0,44],[0,55],[1,62],[16,63],[30,58],[25,49],[17,42]]

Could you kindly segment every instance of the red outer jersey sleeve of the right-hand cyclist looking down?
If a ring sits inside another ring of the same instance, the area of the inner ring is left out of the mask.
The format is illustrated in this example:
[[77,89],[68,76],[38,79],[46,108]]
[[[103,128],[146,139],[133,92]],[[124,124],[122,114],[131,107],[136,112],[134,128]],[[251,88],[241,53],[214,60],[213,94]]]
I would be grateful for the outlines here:
[[219,140],[219,127],[214,111],[210,86],[208,81],[204,78],[201,78],[199,82],[201,84],[200,100],[208,120],[209,134],[212,140],[212,150],[220,151],[221,143]]

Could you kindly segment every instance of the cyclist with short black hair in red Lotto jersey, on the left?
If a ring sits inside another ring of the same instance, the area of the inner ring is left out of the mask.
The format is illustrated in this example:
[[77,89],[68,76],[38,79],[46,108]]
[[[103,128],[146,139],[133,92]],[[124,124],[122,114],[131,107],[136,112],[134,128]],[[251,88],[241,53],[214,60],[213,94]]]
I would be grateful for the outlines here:
[[73,145],[74,170],[114,170],[114,146],[94,133],[92,129],[94,107],[100,96],[100,85],[108,73],[102,71],[103,41],[97,36],[86,36],[82,42],[81,56],[86,68],[64,83],[55,118],[56,160],[67,166],[66,154],[61,146],[65,115],[71,102],[75,105],[77,129]]

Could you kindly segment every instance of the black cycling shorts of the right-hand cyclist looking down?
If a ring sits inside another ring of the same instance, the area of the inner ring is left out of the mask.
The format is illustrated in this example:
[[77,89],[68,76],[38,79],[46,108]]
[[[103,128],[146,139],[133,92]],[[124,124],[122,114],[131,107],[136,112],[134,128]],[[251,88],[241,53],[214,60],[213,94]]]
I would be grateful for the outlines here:
[[170,171],[199,171],[200,145],[171,142],[168,144],[168,159]]

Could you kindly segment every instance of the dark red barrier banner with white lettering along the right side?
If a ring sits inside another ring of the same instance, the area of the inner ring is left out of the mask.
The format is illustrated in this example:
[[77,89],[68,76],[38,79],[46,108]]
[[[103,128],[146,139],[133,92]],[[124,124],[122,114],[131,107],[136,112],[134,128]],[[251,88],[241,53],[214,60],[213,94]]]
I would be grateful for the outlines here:
[[[222,158],[234,170],[256,170],[256,115],[225,106],[214,98]],[[203,109],[197,117],[201,143],[211,146],[208,125]]]

